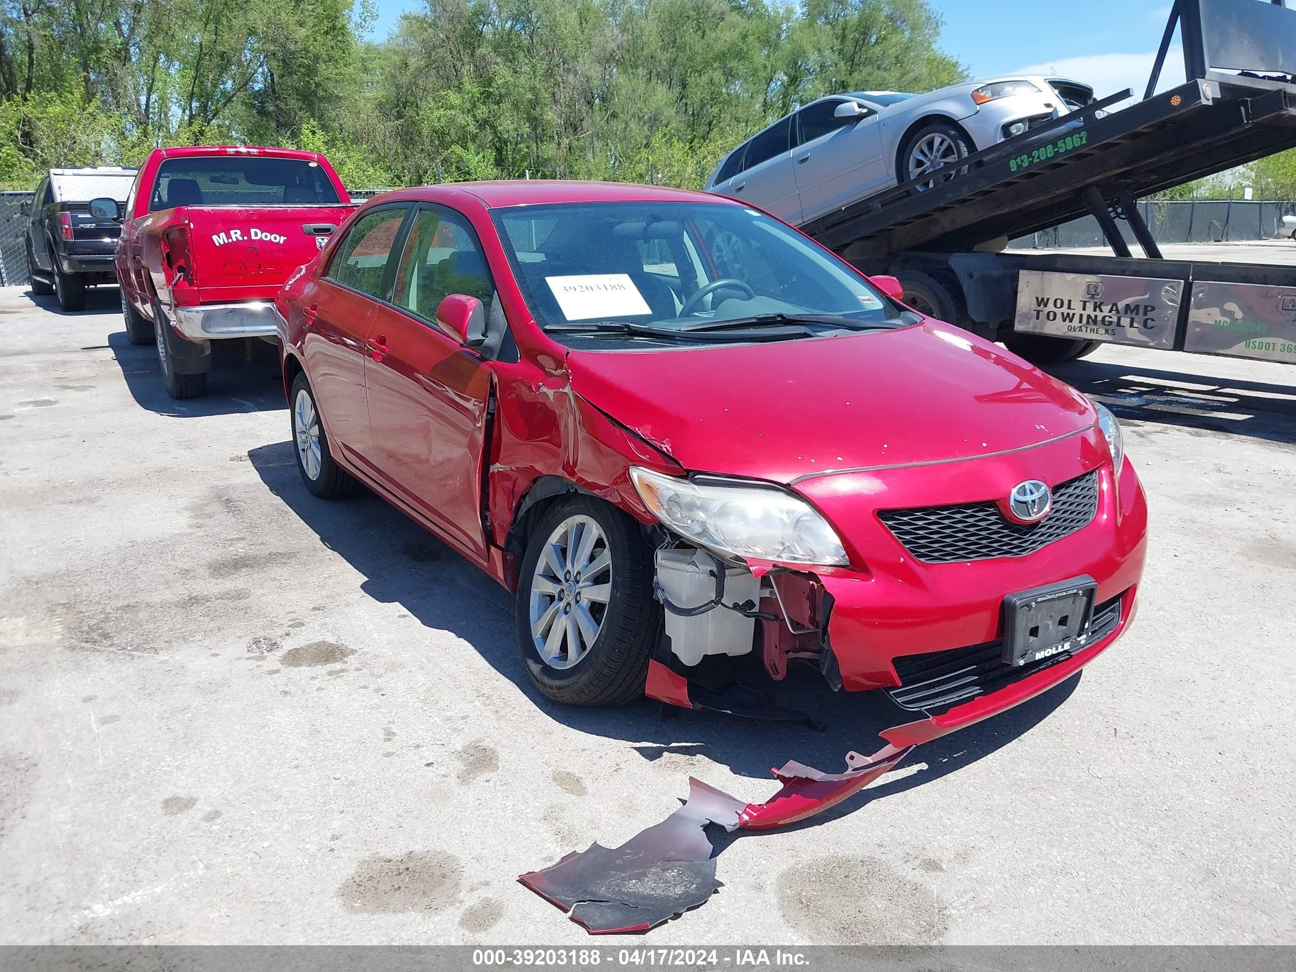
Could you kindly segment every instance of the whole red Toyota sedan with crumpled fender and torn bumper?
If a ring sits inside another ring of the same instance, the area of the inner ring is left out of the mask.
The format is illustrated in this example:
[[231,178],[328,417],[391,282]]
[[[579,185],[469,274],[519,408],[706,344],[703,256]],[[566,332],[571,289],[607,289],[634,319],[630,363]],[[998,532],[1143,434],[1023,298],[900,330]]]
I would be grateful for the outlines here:
[[920,741],[1122,634],[1147,512],[1111,412],[897,297],[715,196],[388,193],[276,298],[302,480],[516,591],[551,699],[688,705],[754,652]]

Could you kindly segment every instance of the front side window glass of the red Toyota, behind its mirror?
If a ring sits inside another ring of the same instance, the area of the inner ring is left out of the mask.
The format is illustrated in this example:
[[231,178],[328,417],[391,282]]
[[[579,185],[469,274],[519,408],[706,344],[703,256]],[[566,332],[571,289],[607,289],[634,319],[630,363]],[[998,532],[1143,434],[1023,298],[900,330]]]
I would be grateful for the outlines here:
[[437,209],[420,209],[410,228],[393,302],[424,320],[450,294],[468,294],[490,307],[495,288],[468,223]]

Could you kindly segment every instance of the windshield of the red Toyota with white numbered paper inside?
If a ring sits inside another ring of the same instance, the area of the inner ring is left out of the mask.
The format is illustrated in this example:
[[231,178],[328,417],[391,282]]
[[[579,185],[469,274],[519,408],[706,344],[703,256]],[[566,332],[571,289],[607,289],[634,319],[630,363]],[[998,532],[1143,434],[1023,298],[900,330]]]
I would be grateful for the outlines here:
[[595,330],[753,340],[744,328],[778,325],[772,340],[916,320],[851,267],[745,206],[587,202],[492,215],[527,306],[559,341]]

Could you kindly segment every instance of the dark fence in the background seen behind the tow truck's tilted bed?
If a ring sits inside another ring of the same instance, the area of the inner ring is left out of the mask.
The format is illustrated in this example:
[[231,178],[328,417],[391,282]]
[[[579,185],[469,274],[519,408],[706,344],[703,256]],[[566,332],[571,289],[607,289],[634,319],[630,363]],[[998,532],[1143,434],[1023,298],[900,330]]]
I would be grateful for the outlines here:
[[[1291,236],[1292,228],[1283,227],[1283,216],[1296,215],[1296,202],[1257,200],[1143,200],[1138,209],[1159,244],[1240,242]],[[1134,244],[1129,224],[1120,220],[1117,226],[1125,241]],[[1064,250],[1073,246],[1107,246],[1096,219],[1081,216],[1008,244],[1013,250]]]

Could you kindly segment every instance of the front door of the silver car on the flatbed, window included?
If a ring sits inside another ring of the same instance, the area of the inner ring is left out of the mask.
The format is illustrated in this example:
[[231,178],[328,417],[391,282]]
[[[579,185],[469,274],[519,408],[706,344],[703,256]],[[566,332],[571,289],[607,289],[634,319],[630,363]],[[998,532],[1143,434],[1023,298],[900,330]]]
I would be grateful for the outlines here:
[[890,180],[877,113],[866,109],[863,117],[836,118],[833,111],[845,101],[816,101],[796,114],[792,171],[805,220],[871,196]]

